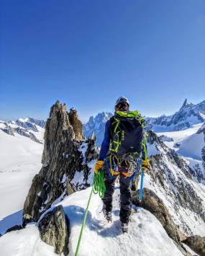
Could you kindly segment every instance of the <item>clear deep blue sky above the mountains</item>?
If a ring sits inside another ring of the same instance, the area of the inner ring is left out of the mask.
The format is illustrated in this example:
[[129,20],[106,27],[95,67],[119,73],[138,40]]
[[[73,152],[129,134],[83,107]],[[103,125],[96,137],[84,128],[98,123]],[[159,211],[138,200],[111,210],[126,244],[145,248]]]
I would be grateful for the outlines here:
[[125,95],[142,115],[205,100],[204,0],[3,0],[0,119],[90,115]]

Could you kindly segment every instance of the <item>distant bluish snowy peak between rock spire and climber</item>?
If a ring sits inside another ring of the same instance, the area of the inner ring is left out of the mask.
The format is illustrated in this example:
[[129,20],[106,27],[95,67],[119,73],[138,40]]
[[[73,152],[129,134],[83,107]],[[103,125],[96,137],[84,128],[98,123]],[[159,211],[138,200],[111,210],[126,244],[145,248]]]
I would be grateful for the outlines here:
[[90,138],[92,133],[96,136],[96,146],[101,146],[104,138],[104,125],[113,114],[111,112],[101,112],[94,118],[91,116],[88,123],[83,125],[83,133],[87,138]]

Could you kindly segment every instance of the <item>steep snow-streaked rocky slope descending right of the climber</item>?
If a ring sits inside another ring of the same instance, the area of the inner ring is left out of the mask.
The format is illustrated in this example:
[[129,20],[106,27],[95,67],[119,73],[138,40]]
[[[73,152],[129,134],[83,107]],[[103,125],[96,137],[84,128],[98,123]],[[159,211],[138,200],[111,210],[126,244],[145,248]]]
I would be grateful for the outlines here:
[[193,170],[152,131],[149,131],[147,143],[148,149],[155,147],[156,150],[150,156],[149,187],[168,207],[173,221],[190,235],[191,226],[186,221],[188,215],[194,216],[195,225],[205,224],[204,198],[196,191]]

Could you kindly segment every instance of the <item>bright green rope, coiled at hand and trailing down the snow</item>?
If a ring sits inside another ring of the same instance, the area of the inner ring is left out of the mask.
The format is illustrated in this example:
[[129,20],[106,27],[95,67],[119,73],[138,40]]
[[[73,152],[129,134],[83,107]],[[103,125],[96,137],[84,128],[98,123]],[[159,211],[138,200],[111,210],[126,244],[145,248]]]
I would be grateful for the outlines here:
[[78,238],[78,244],[77,244],[77,247],[76,247],[75,256],[78,255],[79,247],[80,247],[80,244],[81,244],[81,238],[82,238],[82,235],[83,235],[83,229],[86,225],[86,218],[87,218],[87,214],[88,214],[88,208],[89,208],[89,205],[90,205],[90,202],[91,202],[91,196],[92,196],[93,192],[94,192],[94,194],[99,193],[99,196],[101,198],[104,197],[105,184],[104,184],[104,171],[103,171],[103,169],[99,169],[99,172],[94,174],[94,185],[91,189],[91,193],[89,195],[88,203],[87,203],[87,206],[86,206],[86,211],[84,213],[83,223],[82,223],[81,232],[80,232],[80,235],[79,235],[79,238]]

